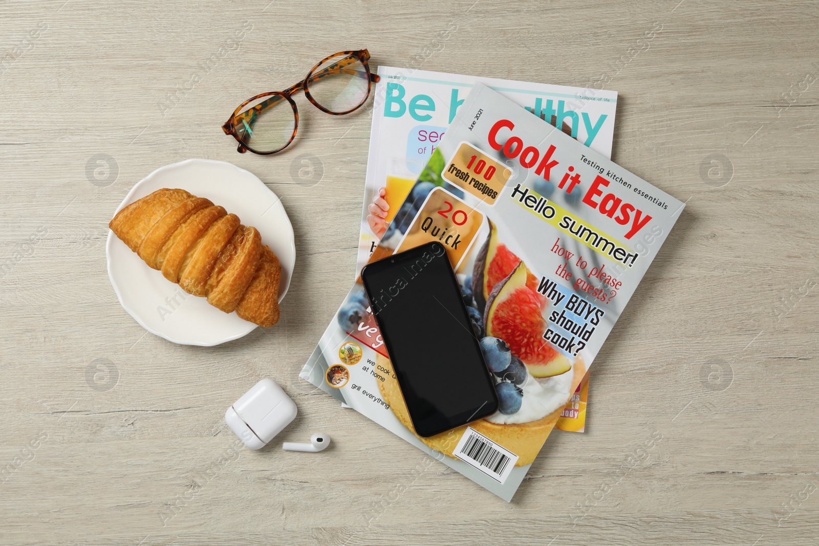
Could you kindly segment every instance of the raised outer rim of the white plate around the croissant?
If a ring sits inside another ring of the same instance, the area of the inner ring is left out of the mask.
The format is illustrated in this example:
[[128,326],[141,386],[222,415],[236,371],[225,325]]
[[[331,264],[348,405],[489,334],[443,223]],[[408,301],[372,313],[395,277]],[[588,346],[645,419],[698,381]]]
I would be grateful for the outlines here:
[[[120,205],[118,205],[116,207],[116,210],[114,211],[114,216],[118,212],[120,212],[120,210],[124,209],[126,206],[131,204],[132,201],[130,201],[130,200],[131,200],[131,197],[133,196],[133,193],[136,192],[138,187],[140,187],[143,183],[145,183],[146,180],[152,178],[153,176],[155,176],[156,174],[160,173],[161,171],[163,171],[165,169],[171,169],[171,168],[174,168],[174,167],[178,168],[178,167],[180,167],[182,165],[185,165],[185,164],[188,164],[188,163],[210,163],[210,164],[217,164],[217,165],[228,165],[230,167],[233,167],[233,169],[237,169],[240,173],[249,174],[251,180],[255,181],[256,183],[259,183],[262,187],[265,188],[266,191],[270,192],[273,196],[275,196],[278,199],[277,203],[282,206],[282,211],[284,213],[284,219],[287,221],[287,227],[289,228],[289,232],[290,232],[290,249],[292,250],[292,256],[293,256],[293,259],[292,259],[293,263],[292,263],[291,271],[289,272],[290,274],[287,276],[287,287],[284,287],[284,292],[278,296],[278,302],[281,303],[282,300],[284,299],[284,296],[287,295],[287,290],[289,290],[289,288],[290,288],[290,282],[292,281],[292,276],[293,276],[293,269],[295,269],[295,267],[296,267],[296,234],[293,231],[293,224],[290,221],[290,216],[287,214],[287,210],[284,209],[284,205],[282,204],[282,198],[280,196],[278,196],[278,194],[275,193],[273,190],[271,190],[269,187],[267,187],[265,185],[265,183],[261,181],[261,178],[256,176],[256,174],[251,173],[251,171],[249,171],[247,169],[242,169],[242,167],[239,167],[238,165],[233,165],[233,163],[230,163],[229,161],[206,160],[206,159],[199,159],[199,158],[191,158],[191,159],[187,159],[187,160],[177,161],[176,163],[170,163],[169,165],[162,165],[161,167],[158,167],[158,168],[154,169],[151,173],[144,176],[141,180],[139,180],[138,183],[133,184],[133,187],[131,187],[131,189],[128,191],[128,193],[126,193],[125,196],[123,197],[122,201],[120,201]],[[113,218],[113,216],[111,216],[111,218]],[[228,337],[220,339],[219,341],[213,341],[213,342],[181,341],[181,340],[175,339],[174,337],[165,335],[164,333],[157,332],[152,327],[149,327],[146,323],[144,323],[143,320],[141,318],[139,318],[138,315],[133,312],[133,309],[130,309],[128,305],[125,305],[125,303],[124,303],[124,301],[122,299],[122,294],[120,294],[120,288],[117,286],[117,284],[116,284],[116,282],[114,280],[114,276],[111,273],[111,264],[112,264],[112,261],[113,261],[111,259],[111,245],[113,244],[114,239],[119,241],[119,237],[116,237],[114,232],[111,230],[111,228],[108,228],[108,235],[106,237],[106,249],[105,249],[106,271],[108,273],[108,281],[111,282],[111,287],[114,288],[114,292],[116,294],[116,299],[119,300],[120,306],[123,309],[125,309],[125,311],[129,315],[131,315],[131,318],[133,318],[135,321],[137,321],[139,326],[143,327],[146,332],[151,332],[153,335],[159,336],[162,339],[165,339],[165,340],[170,341],[171,343],[175,343],[177,345],[193,345],[193,346],[198,346],[198,347],[214,347],[215,345],[221,345],[223,343],[227,343],[228,341],[238,340],[240,337],[247,336],[247,334],[249,334],[250,332],[253,332],[254,330],[256,330],[256,328],[259,327],[258,324],[251,323],[250,321],[245,321],[250,326],[247,329],[246,332],[240,332],[240,333],[238,333],[236,335],[228,336]],[[242,320],[244,320],[244,319],[242,319]]]

